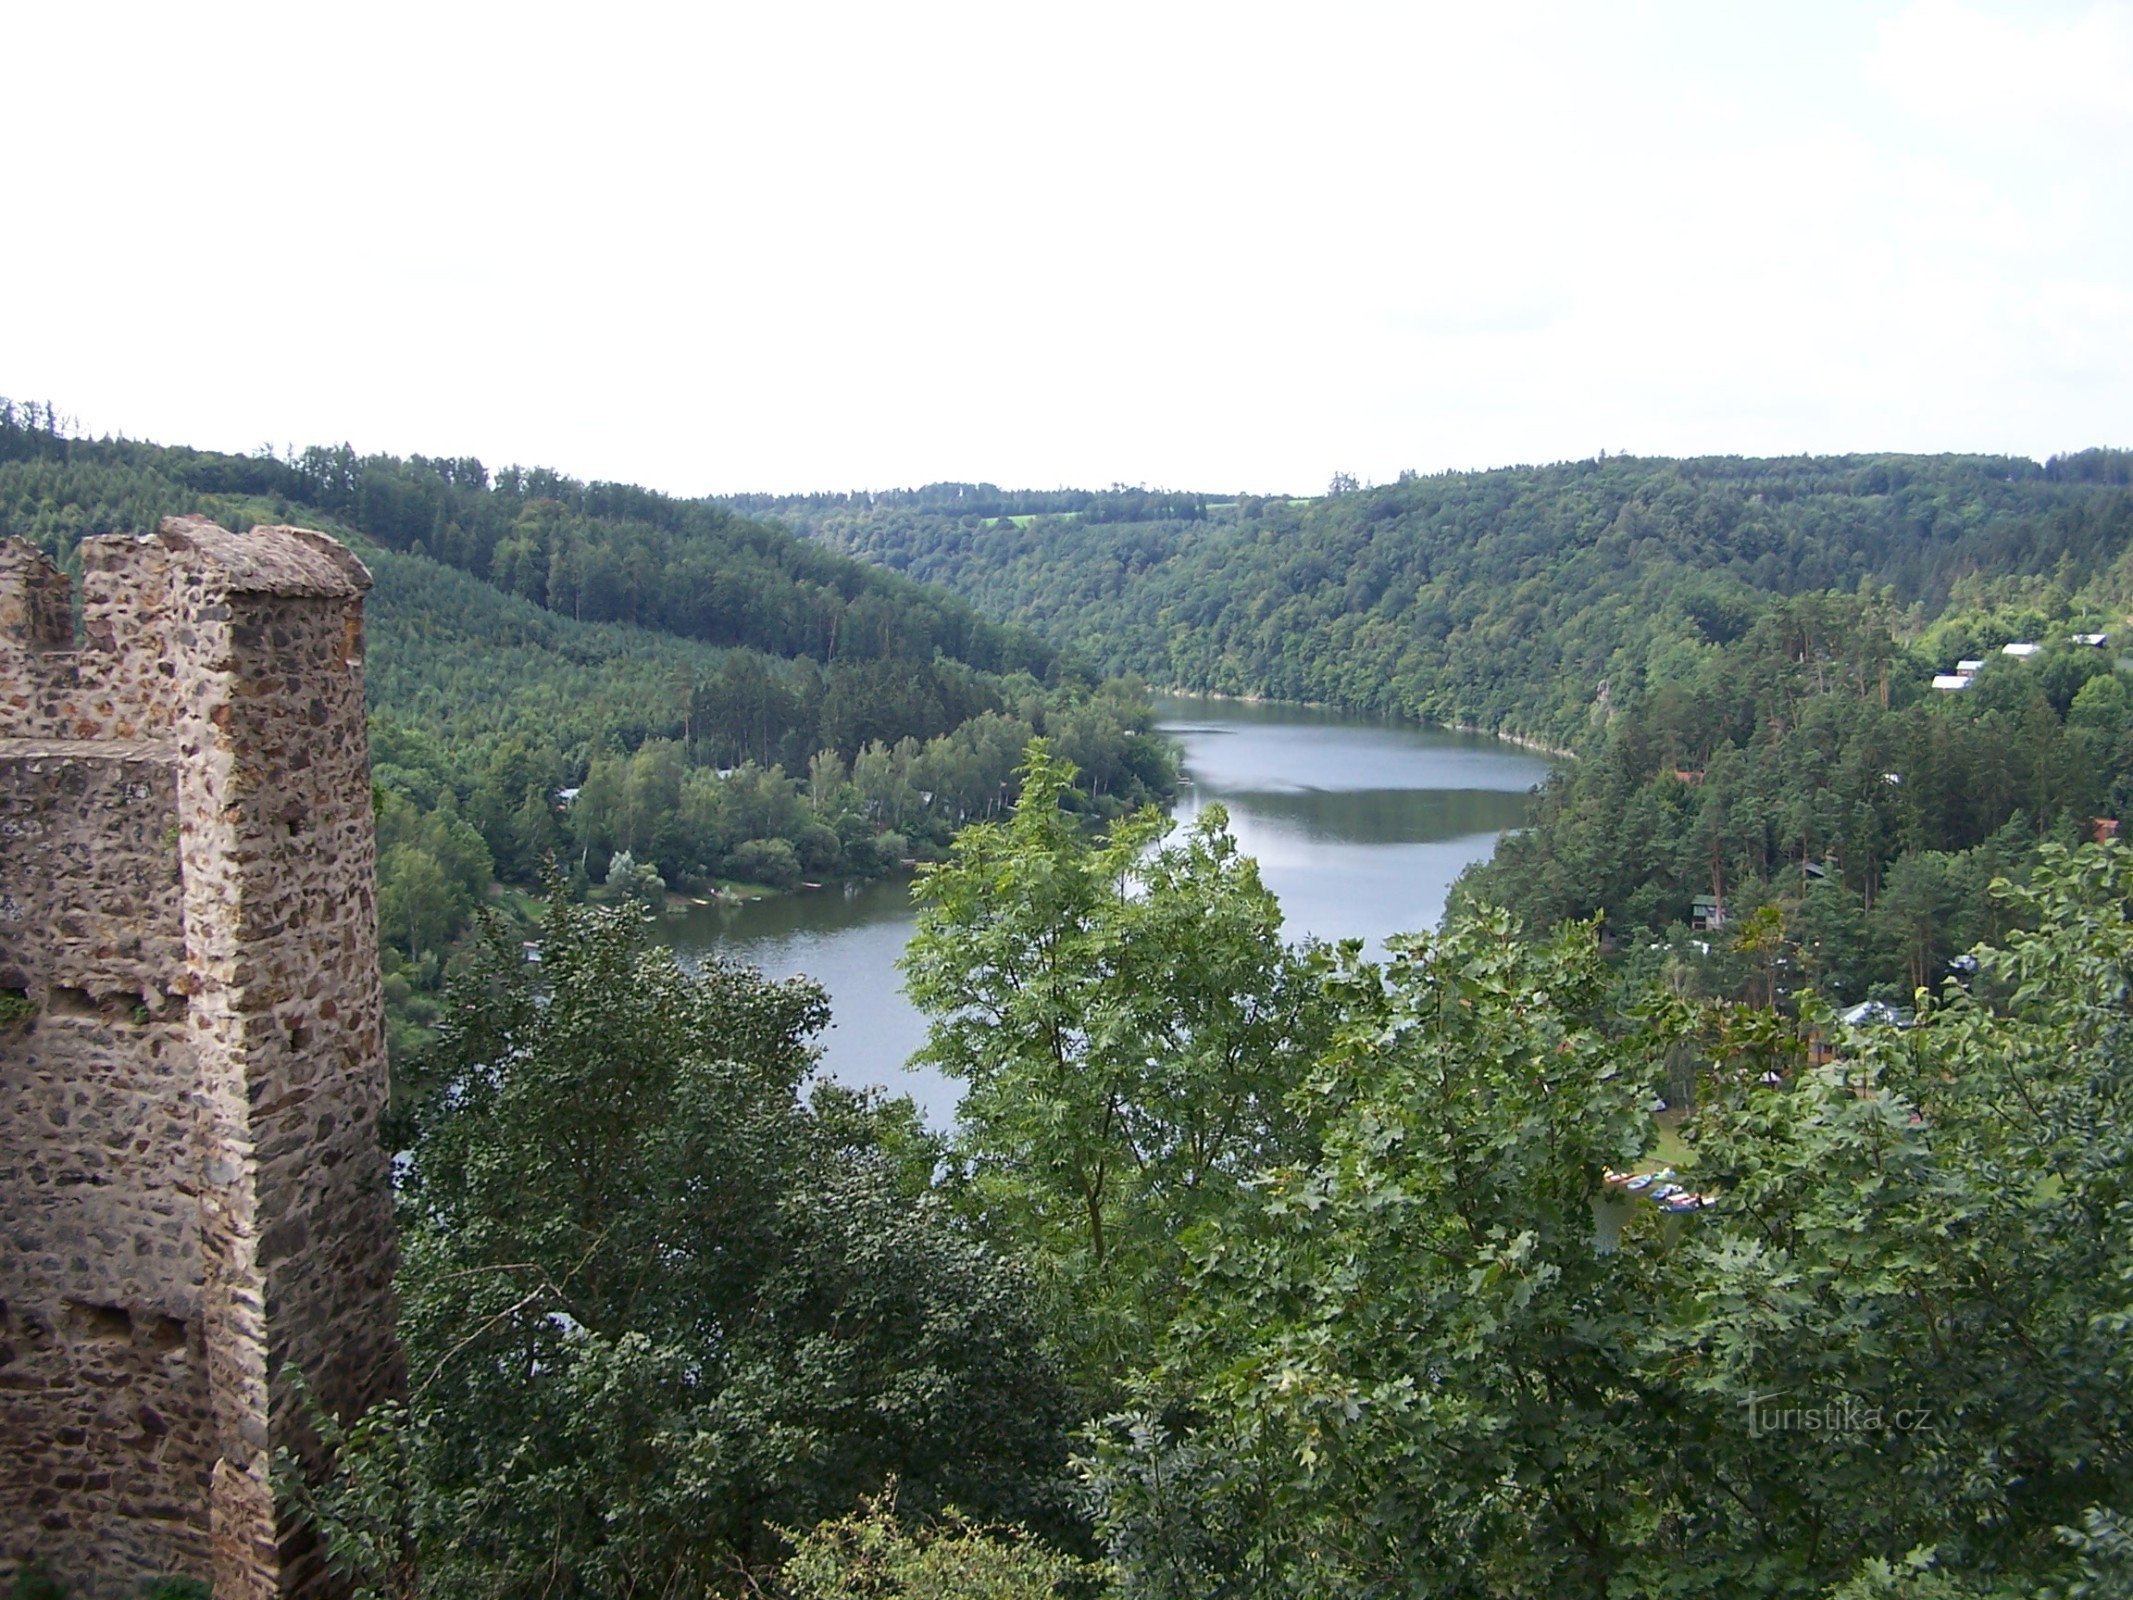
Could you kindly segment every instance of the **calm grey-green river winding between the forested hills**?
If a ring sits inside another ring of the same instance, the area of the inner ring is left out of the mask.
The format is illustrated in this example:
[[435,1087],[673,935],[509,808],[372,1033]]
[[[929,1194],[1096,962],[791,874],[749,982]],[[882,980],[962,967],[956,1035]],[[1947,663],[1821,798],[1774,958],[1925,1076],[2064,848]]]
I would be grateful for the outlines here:
[[[1359,937],[1372,951],[1433,928],[1453,879],[1519,826],[1549,774],[1544,757],[1480,734],[1299,706],[1158,698],[1156,719],[1184,749],[1180,821],[1226,806],[1288,937]],[[909,894],[904,879],[851,883],[691,911],[663,932],[683,960],[719,954],[817,979],[832,1007],[823,1067],[911,1094],[945,1129],[956,1084],[904,1069],[926,1041],[896,973],[915,922]]]

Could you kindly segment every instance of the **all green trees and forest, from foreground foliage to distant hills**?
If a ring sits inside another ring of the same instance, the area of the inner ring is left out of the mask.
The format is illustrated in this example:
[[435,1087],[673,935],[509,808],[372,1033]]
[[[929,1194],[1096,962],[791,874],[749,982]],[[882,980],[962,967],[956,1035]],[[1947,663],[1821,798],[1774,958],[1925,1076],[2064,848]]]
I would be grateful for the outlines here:
[[[0,531],[296,516],[378,574],[412,1382],[286,1476],[365,1594],[2122,1596],[2133,866],[2069,845],[2133,689],[2063,636],[2133,599],[2127,463],[751,503],[1111,668],[1581,745],[1382,966],[1137,811],[1137,683],[719,506],[0,405]],[[550,858],[648,902],[958,828],[907,969],[953,1146],[806,1090],[806,983],[563,896],[538,969],[469,932]],[[1824,1005],[1975,941],[1915,1026]],[[1679,1216],[1602,1180],[1662,1092]]]

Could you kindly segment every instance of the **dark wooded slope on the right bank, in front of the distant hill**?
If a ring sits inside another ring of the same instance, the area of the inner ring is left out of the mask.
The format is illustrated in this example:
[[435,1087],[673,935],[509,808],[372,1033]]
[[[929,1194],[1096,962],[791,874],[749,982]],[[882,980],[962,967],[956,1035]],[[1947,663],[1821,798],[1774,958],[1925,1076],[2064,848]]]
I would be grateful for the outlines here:
[[[1996,877],[2133,794],[2103,651],[2060,642],[1960,693],[1924,685],[1879,606],[1777,602],[1625,706],[1461,892],[1536,926],[1602,915],[1645,975],[1683,960],[1691,898],[1715,896],[1732,949],[1689,958],[1711,992],[1909,998],[2009,928]],[[1779,907],[1749,958],[1738,924]]]

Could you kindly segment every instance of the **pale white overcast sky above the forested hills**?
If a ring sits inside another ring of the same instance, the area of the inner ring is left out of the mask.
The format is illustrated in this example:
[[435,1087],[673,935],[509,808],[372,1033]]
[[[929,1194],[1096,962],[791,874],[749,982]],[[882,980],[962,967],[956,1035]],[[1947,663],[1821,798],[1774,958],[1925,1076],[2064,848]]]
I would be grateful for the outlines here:
[[0,395],[674,493],[2133,444],[2133,0],[0,9]]

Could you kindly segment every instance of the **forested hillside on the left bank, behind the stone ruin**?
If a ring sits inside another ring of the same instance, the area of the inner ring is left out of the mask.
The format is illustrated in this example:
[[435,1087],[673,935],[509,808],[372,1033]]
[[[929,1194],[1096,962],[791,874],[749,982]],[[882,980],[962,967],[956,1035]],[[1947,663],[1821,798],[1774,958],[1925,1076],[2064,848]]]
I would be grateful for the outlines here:
[[793,890],[943,851],[1047,734],[1086,804],[1169,794],[1145,695],[966,602],[734,512],[346,448],[77,439],[0,401],[0,535],[62,565],[175,512],[296,521],[369,563],[380,924],[401,1054],[493,881]]

